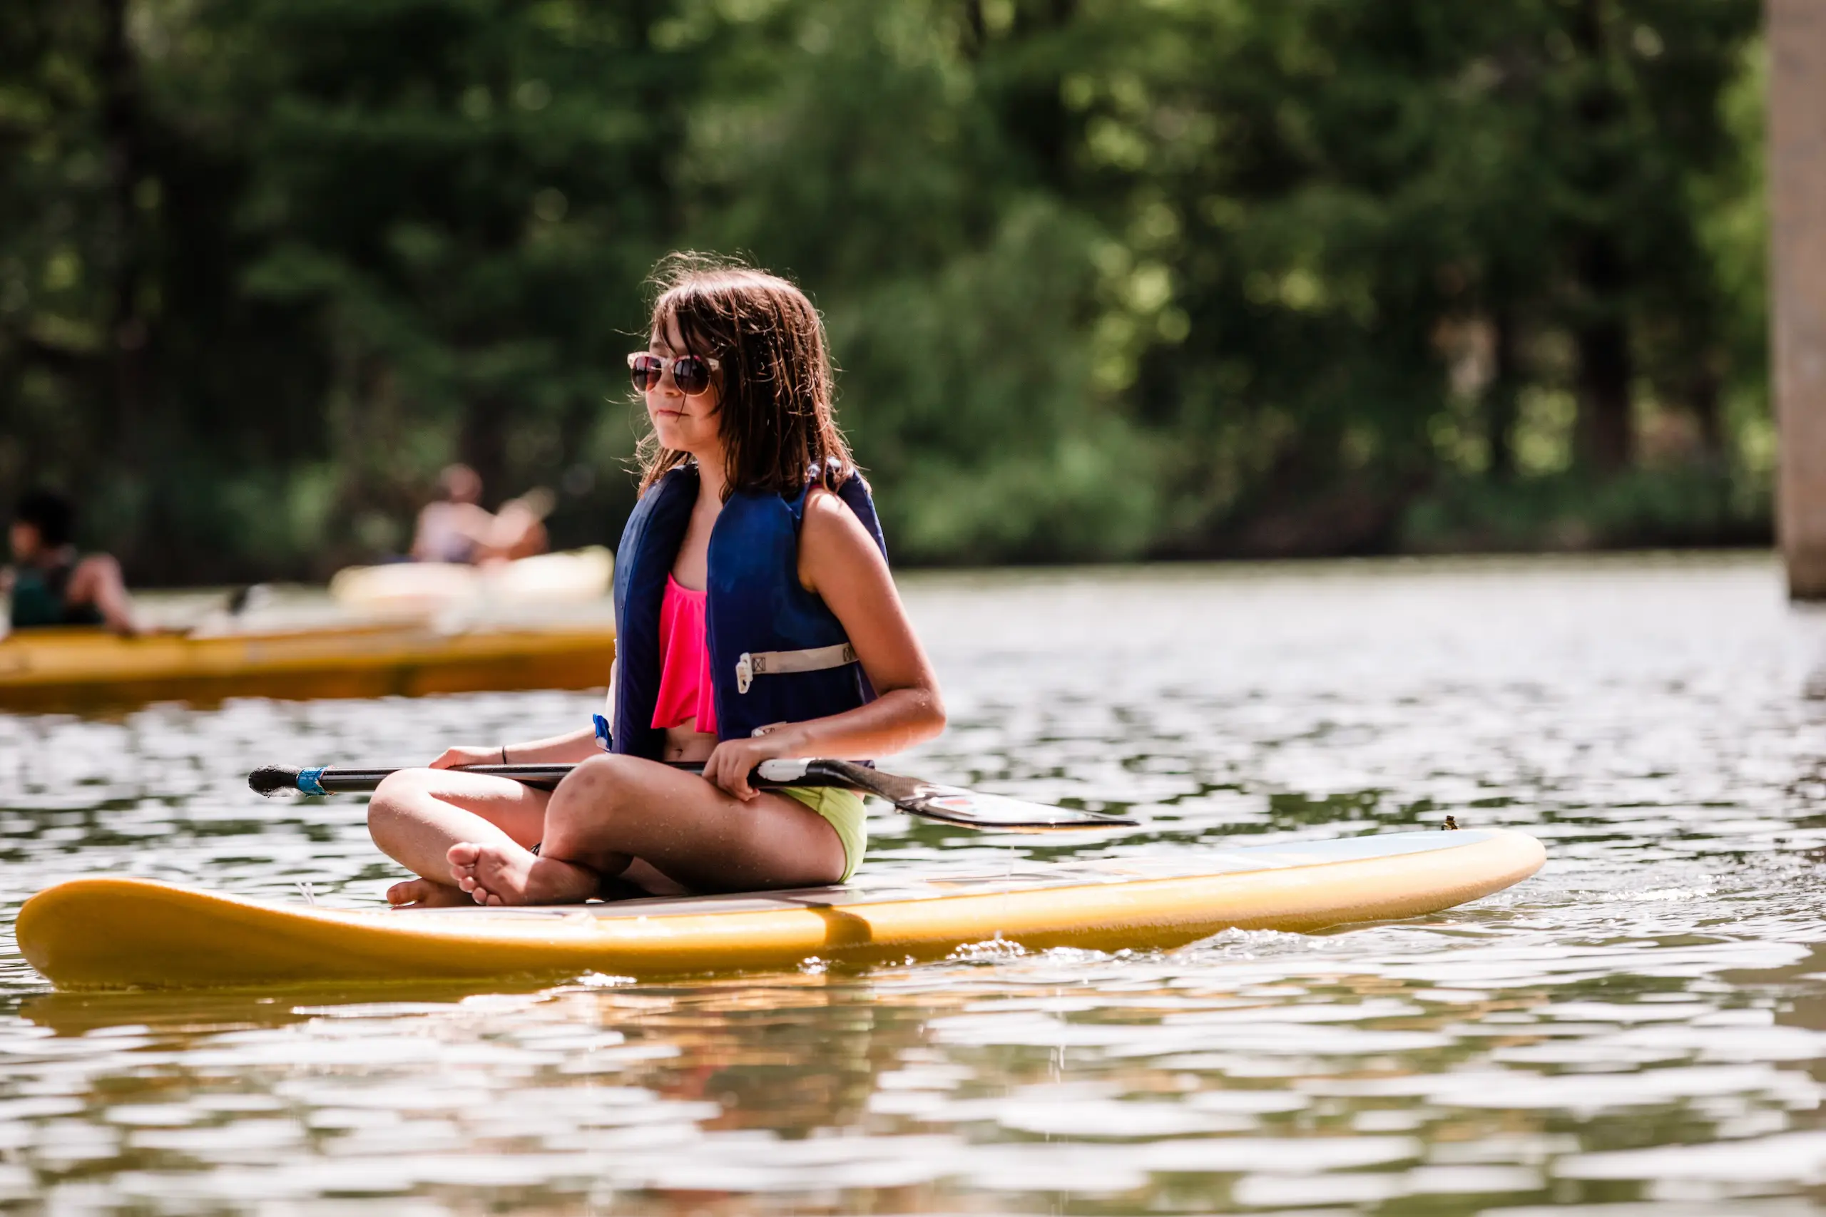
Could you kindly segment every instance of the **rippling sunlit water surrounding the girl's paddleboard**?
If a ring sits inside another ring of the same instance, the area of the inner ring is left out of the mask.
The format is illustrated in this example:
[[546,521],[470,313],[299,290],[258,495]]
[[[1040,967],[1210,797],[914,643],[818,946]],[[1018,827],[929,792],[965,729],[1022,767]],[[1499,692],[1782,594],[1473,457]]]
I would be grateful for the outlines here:
[[[1826,615],[1766,558],[924,577],[953,728],[897,768],[1130,808],[878,817],[871,867],[1437,825],[1547,869],[1174,952],[515,993],[57,994],[0,943],[0,1206],[88,1213],[1826,1208]],[[1817,675],[1819,670],[1819,675]],[[265,761],[562,730],[579,695],[0,717],[0,901],[131,872],[376,903]]]

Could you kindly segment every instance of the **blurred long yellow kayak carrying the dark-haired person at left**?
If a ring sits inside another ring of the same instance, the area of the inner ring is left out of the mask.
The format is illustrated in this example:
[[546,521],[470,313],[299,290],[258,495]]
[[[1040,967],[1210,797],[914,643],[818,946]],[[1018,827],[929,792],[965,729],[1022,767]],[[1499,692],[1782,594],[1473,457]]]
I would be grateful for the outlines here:
[[400,622],[141,639],[27,629],[0,639],[0,710],[597,688],[608,684],[614,657],[608,622],[462,633]]

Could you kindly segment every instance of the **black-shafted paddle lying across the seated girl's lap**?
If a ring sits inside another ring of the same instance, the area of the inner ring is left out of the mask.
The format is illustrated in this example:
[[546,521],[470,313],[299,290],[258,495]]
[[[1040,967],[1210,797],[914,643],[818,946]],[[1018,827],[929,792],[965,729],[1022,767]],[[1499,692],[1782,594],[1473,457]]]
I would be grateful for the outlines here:
[[[688,772],[703,772],[701,765],[674,765]],[[373,790],[380,781],[396,770],[347,770],[347,768],[287,768],[263,765],[247,775],[247,785],[257,794],[278,794],[281,790],[301,790],[303,794],[354,794]],[[570,765],[466,765],[466,774],[493,774],[513,781],[551,790],[572,772]],[[999,794],[977,794],[962,786],[940,786],[939,783],[900,774],[884,774],[855,761],[761,761],[749,777],[754,786],[849,786],[887,799],[909,816],[937,819],[946,825],[964,828],[984,828],[997,832],[1054,832],[1068,828],[1132,828],[1134,819],[1123,816],[1105,816],[1101,812],[1074,812],[1041,803],[1023,803]]]

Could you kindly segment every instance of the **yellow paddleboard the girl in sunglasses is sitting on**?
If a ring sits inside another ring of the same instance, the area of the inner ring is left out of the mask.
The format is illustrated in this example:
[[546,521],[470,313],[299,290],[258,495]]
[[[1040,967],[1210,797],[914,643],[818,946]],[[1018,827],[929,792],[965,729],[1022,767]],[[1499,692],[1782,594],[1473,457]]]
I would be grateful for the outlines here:
[[1393,832],[535,909],[327,909],[131,878],[26,901],[18,945],[64,989],[701,974],[931,960],[966,943],[1170,949],[1222,929],[1317,931],[1503,890],[1547,854],[1510,830]]

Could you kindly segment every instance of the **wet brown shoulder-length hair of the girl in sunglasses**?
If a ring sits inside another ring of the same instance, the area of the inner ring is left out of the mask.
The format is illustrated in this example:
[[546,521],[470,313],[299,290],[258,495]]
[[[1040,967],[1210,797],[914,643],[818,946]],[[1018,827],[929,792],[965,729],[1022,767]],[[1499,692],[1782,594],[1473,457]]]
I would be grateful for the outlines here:
[[[855,469],[831,412],[824,319],[787,279],[701,254],[674,254],[654,272],[650,332],[677,325],[685,350],[718,359],[719,434],[730,491],[798,494],[813,476],[836,487]],[[641,493],[685,452],[641,440]]]

